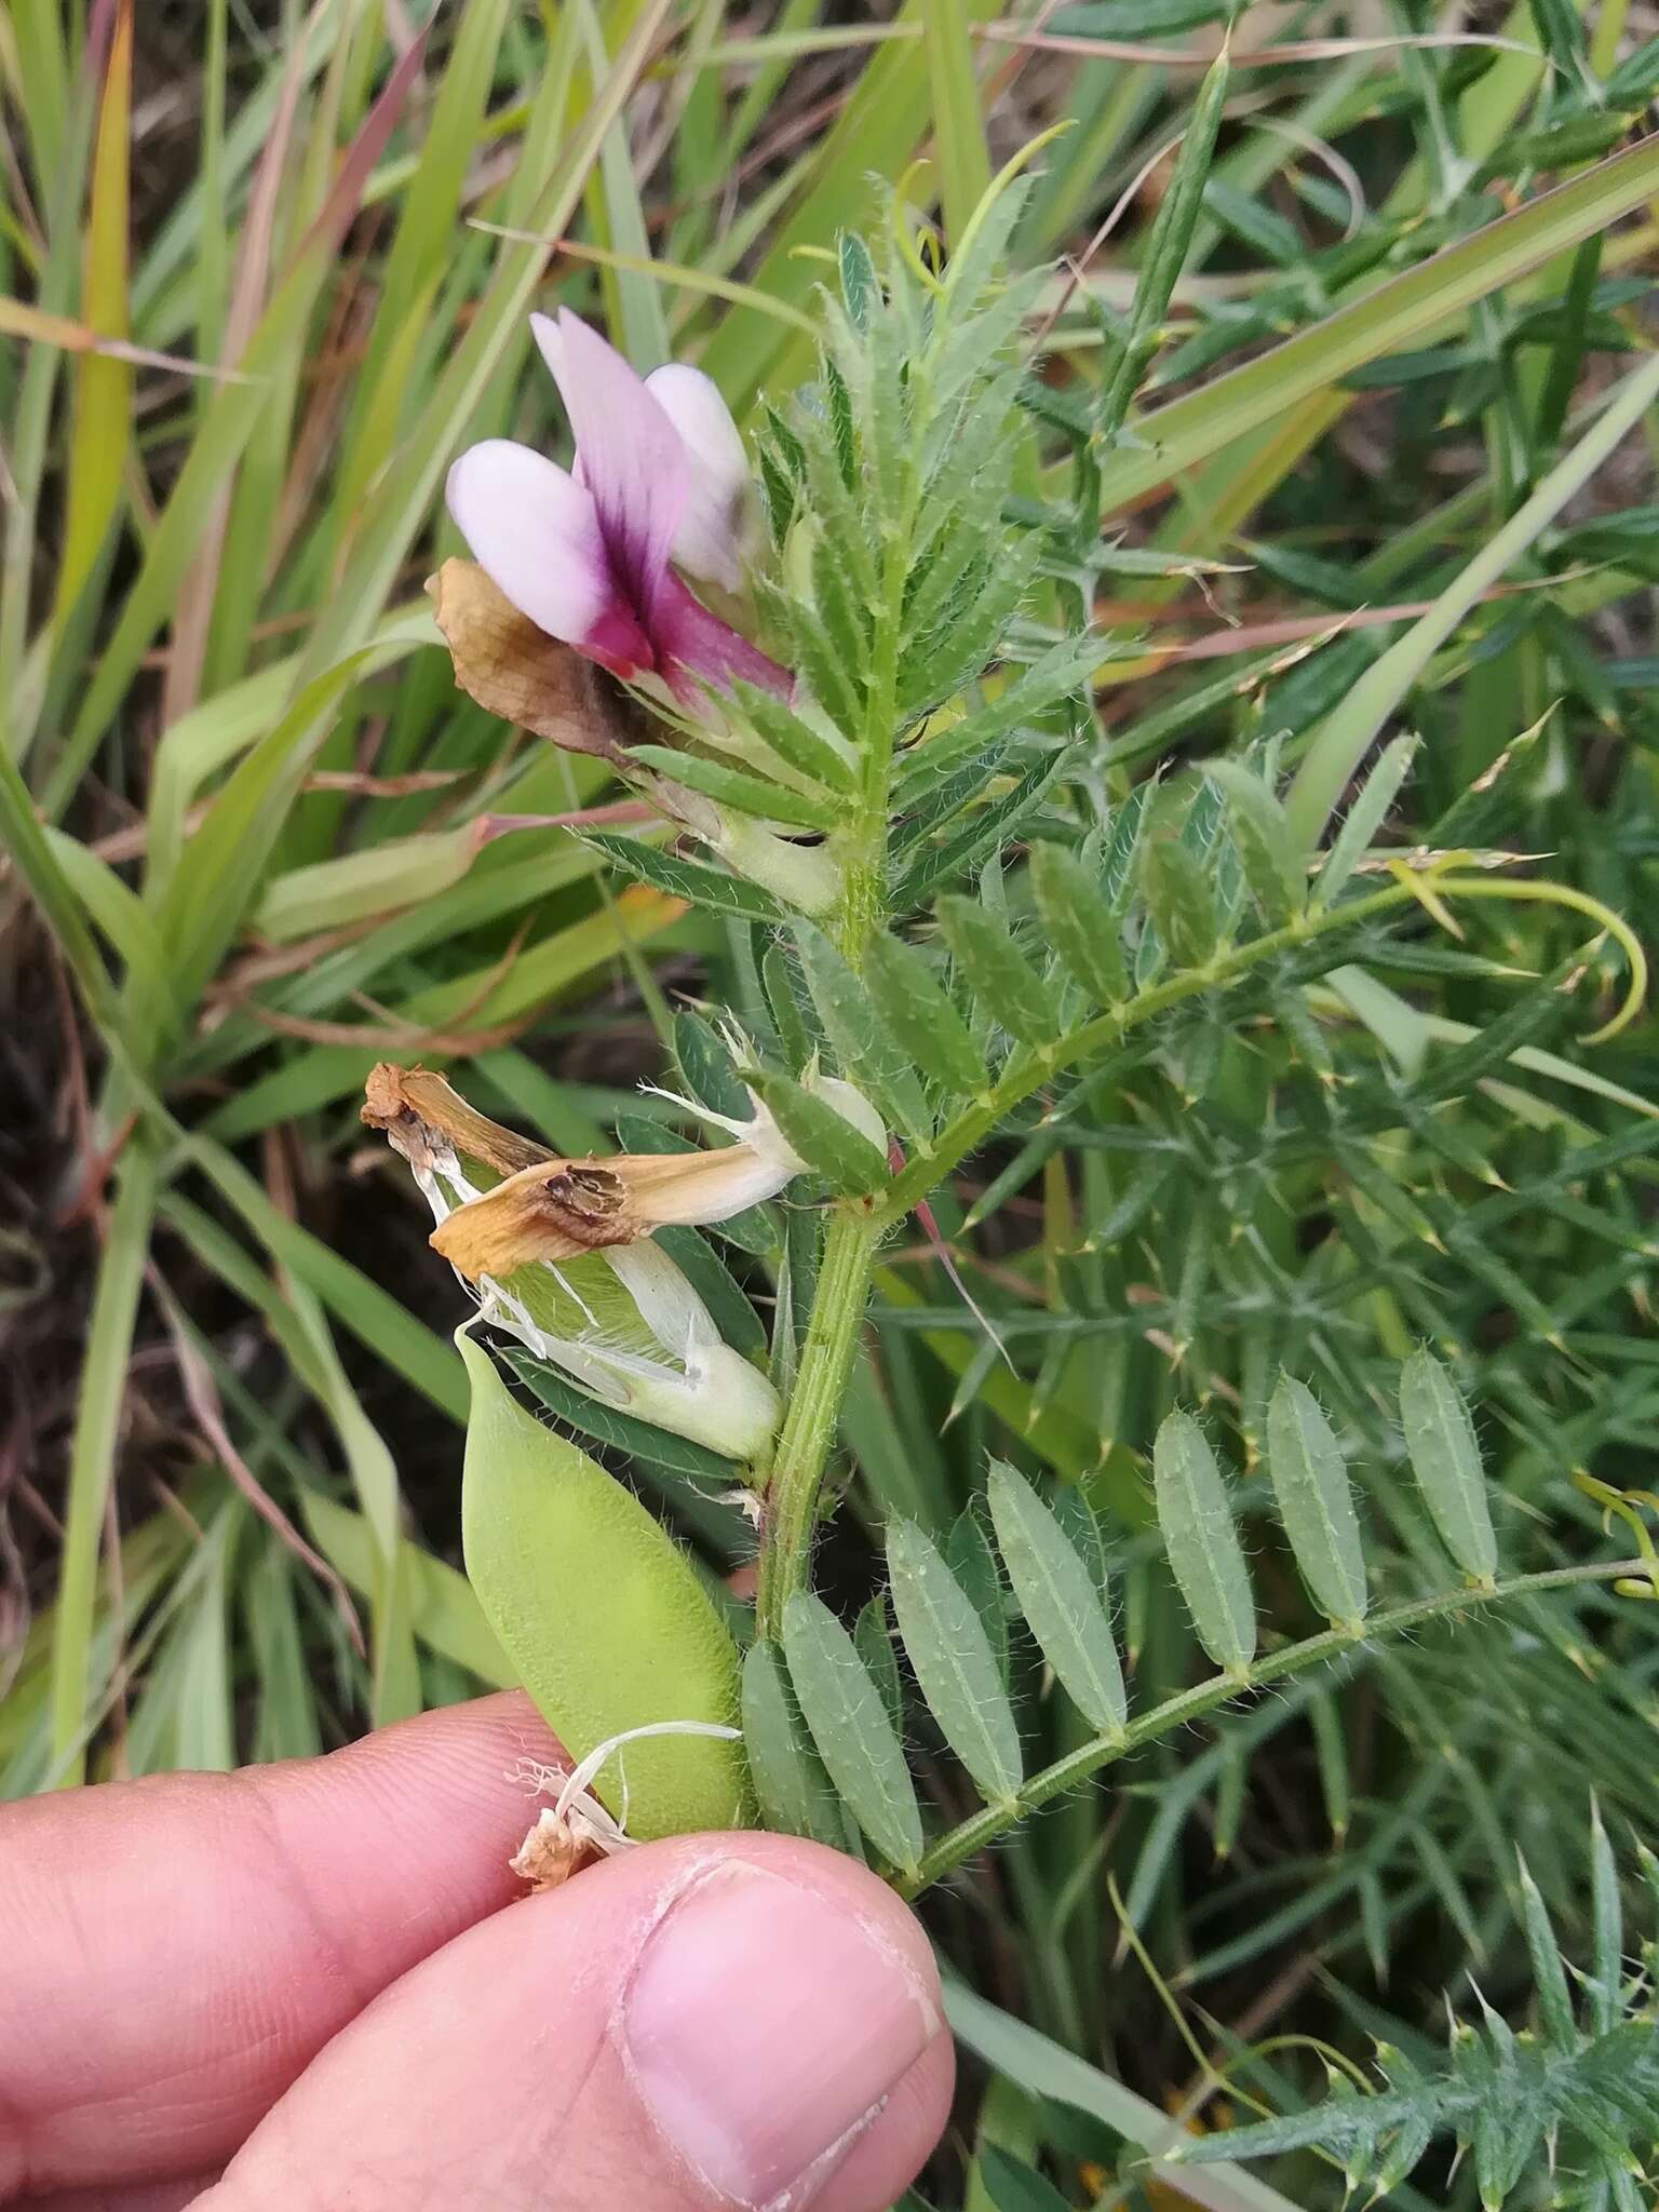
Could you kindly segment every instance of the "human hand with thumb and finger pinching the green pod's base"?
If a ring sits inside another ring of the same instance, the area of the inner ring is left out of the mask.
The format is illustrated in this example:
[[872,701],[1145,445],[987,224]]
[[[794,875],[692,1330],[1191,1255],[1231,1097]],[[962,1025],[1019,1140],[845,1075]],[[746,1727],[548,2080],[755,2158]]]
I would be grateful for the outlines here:
[[953,2070],[891,1891],[726,1834],[513,1902],[526,1759],[504,1694],[2,1809],[0,2203],[889,2205]]

